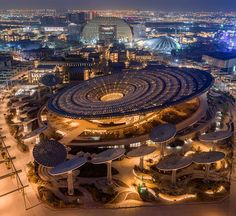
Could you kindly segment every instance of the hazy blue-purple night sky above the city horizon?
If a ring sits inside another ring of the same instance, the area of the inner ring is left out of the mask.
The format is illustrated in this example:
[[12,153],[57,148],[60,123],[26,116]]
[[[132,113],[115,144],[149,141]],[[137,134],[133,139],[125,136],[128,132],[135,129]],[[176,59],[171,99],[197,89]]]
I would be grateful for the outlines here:
[[0,0],[0,8],[236,11],[236,0]]

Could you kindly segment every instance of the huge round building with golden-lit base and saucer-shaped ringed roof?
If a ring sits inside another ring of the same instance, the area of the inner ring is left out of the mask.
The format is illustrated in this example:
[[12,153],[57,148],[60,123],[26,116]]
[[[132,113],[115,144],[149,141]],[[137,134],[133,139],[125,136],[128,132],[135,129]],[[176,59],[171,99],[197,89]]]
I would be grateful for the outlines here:
[[61,134],[65,145],[132,145],[149,140],[157,125],[171,123],[180,131],[201,119],[212,84],[212,76],[198,70],[119,73],[69,85],[42,113],[47,133]]

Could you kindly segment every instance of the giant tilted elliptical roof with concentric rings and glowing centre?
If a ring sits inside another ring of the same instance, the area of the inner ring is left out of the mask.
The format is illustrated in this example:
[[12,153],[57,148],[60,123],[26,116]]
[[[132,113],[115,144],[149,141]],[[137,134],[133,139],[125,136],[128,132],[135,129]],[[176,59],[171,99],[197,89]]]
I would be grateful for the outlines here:
[[[56,115],[75,119],[137,115],[190,100],[212,84],[212,76],[199,70],[119,73],[70,85],[50,98],[47,106]],[[112,98],[114,93],[122,96]],[[110,99],[101,100],[105,95]]]

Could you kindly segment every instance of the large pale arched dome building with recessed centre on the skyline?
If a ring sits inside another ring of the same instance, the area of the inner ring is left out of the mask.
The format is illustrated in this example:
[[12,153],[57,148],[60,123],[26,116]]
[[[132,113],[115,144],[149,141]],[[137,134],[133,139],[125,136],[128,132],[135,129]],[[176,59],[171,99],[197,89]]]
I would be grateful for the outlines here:
[[97,41],[131,42],[133,38],[130,26],[117,17],[96,17],[84,26],[81,41],[95,44]]

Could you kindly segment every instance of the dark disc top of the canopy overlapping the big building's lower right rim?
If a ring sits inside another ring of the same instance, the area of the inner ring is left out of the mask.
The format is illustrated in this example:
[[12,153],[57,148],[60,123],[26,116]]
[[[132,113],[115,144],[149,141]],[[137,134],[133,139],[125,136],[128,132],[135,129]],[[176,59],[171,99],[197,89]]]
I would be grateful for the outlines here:
[[176,127],[173,124],[162,124],[152,129],[149,137],[156,143],[167,142],[176,135]]

